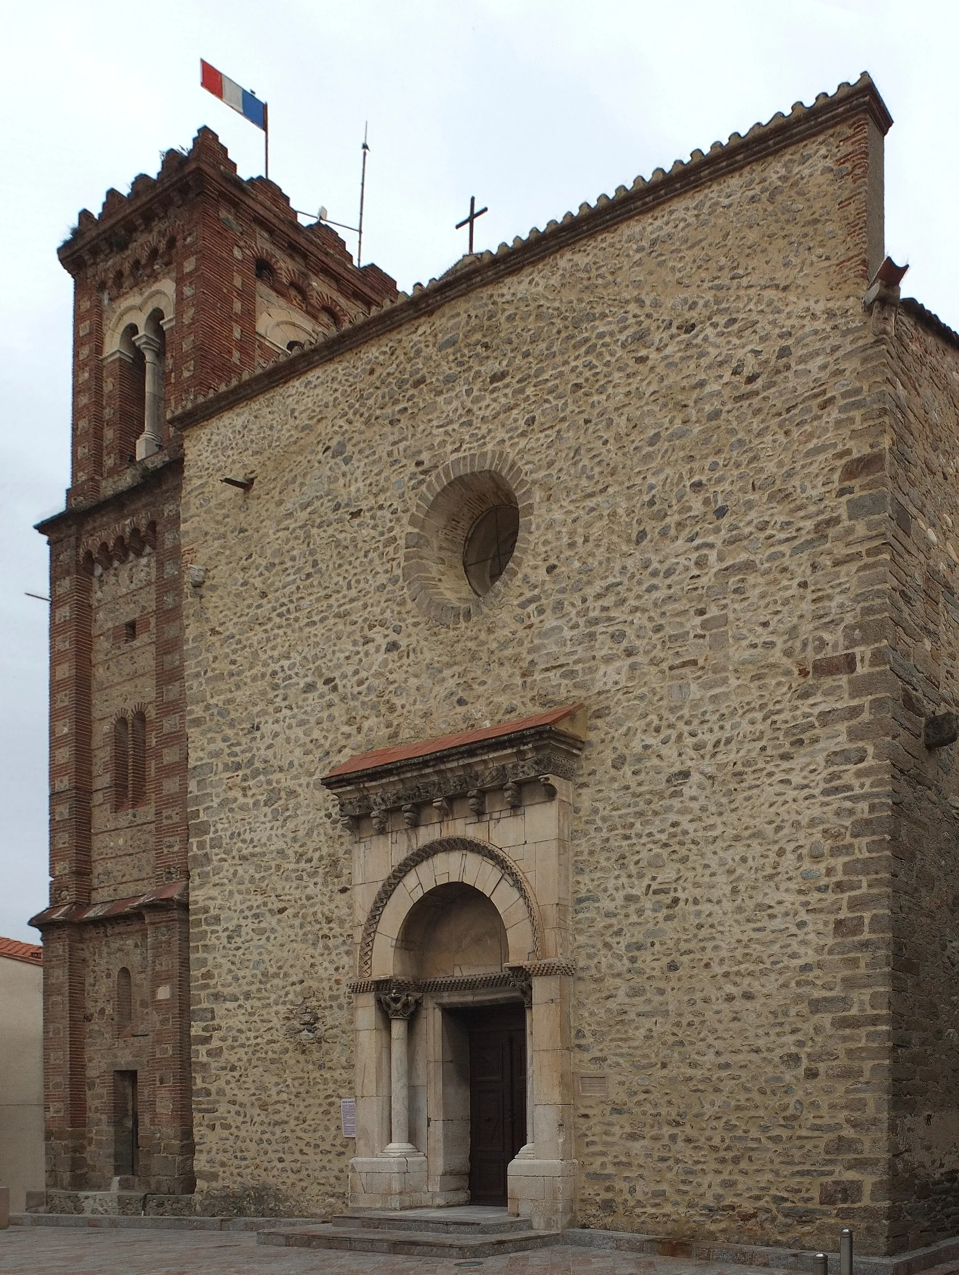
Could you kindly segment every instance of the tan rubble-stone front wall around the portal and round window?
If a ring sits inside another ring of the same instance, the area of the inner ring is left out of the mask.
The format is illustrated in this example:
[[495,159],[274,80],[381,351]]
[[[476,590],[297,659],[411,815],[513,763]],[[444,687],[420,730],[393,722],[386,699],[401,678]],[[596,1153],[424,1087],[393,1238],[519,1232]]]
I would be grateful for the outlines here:
[[[851,627],[890,583],[856,460],[885,428],[877,136],[853,112],[187,432],[201,1193],[343,1202],[349,839],[319,776],[583,700],[573,1028],[606,1080],[579,1086],[580,1220],[889,1246],[861,1016],[890,989],[890,882],[849,901],[891,782],[851,734],[874,676]],[[492,451],[528,541],[448,627],[404,585],[411,516]]]

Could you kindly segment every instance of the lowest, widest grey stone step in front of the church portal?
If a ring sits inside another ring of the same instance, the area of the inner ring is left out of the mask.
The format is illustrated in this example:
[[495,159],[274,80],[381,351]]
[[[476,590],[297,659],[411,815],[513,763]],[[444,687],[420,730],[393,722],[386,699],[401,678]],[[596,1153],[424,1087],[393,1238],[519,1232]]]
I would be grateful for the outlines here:
[[562,1232],[528,1230],[505,1235],[458,1235],[427,1230],[381,1230],[377,1227],[335,1227],[329,1223],[309,1229],[289,1227],[283,1230],[260,1230],[256,1243],[281,1248],[335,1248],[352,1253],[389,1253],[397,1257],[478,1258],[560,1244]]

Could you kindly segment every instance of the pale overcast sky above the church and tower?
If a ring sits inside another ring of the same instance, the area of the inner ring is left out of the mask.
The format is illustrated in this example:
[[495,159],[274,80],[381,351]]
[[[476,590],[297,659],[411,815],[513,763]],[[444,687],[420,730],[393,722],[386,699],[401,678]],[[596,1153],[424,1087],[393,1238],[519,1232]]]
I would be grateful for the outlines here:
[[[886,250],[959,328],[959,5],[923,0],[8,0],[0,19],[0,935],[47,903],[46,542],[69,478],[80,208],[156,173],[201,124],[242,176],[263,135],[199,87],[203,56],[269,102],[270,175],[293,207],[355,224],[400,288],[525,235],[638,173],[746,133],[868,70],[886,139]],[[346,235],[351,250],[353,237]]]

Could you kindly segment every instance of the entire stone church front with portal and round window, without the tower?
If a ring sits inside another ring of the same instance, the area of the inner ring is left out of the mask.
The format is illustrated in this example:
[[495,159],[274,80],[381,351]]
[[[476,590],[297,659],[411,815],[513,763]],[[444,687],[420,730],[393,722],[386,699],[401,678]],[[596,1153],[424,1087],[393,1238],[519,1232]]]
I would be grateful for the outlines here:
[[173,407],[150,1207],[956,1232],[959,338],[890,124],[863,76]]

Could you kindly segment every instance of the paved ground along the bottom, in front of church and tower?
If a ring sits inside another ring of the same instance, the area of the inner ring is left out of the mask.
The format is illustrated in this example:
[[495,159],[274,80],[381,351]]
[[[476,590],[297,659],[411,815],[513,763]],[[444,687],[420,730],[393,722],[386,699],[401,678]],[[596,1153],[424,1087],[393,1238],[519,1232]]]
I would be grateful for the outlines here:
[[742,1275],[743,1267],[556,1244],[469,1262],[272,1248],[255,1234],[10,1227],[0,1230],[3,1275]]

